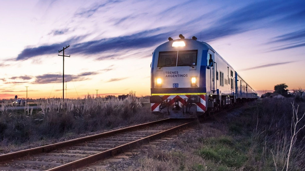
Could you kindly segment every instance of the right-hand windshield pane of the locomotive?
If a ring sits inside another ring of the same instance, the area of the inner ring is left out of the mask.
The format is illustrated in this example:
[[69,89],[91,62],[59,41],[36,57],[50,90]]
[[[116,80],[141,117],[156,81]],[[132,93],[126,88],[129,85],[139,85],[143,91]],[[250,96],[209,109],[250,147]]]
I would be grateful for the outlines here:
[[197,65],[197,50],[179,51],[177,66]]

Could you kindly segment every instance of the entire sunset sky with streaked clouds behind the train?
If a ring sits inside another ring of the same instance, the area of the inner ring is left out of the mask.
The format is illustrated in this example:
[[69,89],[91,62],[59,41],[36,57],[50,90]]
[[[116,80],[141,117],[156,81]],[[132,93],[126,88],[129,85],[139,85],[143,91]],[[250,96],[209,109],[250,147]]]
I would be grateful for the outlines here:
[[[305,1],[0,0],[0,99],[150,95],[153,50],[196,36],[259,94],[305,89]],[[28,87],[26,87],[28,86]]]

